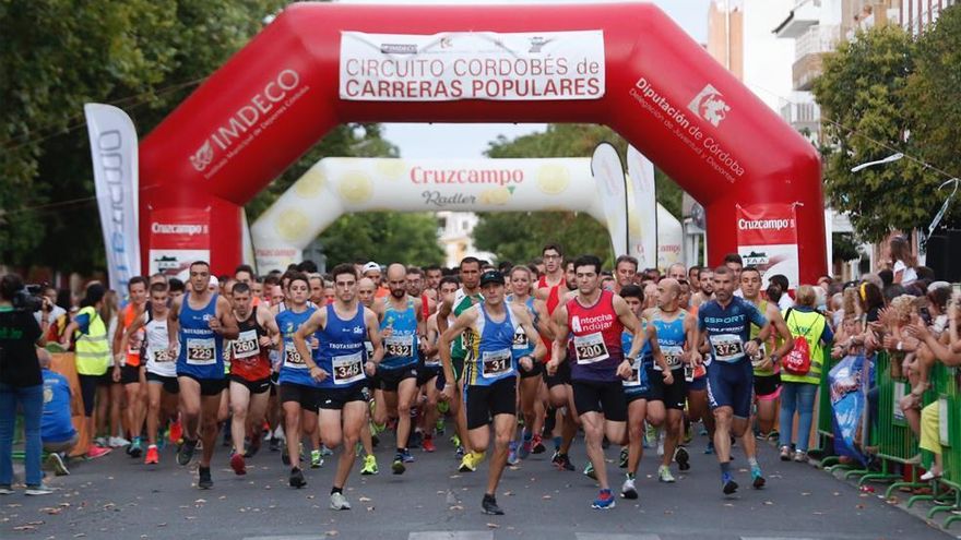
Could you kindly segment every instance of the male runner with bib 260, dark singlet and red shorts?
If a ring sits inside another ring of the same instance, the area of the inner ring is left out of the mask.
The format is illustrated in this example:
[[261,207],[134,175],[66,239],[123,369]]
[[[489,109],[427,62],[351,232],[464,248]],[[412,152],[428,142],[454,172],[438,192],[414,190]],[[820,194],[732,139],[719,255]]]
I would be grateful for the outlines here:
[[[270,350],[280,343],[280,329],[270,310],[253,305],[250,286],[238,281],[233,291],[234,316],[240,331],[230,341],[230,434],[234,456],[230,467],[245,475],[245,457],[257,454],[262,439],[264,413],[271,388]],[[250,433],[250,447],[245,452],[244,440]]]

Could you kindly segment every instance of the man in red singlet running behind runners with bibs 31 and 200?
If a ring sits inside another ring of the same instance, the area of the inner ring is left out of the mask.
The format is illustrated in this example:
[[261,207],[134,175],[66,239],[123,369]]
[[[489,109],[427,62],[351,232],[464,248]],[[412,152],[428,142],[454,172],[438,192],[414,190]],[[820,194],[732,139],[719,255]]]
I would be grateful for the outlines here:
[[[562,264],[563,253],[558,244],[549,243],[545,245],[544,249],[541,250],[541,256],[544,259],[544,275],[542,275],[541,279],[537,281],[537,287],[534,289],[534,298],[544,302],[548,317],[553,317],[565,296],[568,291],[572,290],[571,287],[577,287],[571,283],[573,264],[572,262],[569,262],[567,265]],[[563,268],[567,266],[571,267],[570,273],[565,272]],[[566,338],[567,336],[555,335],[554,337]],[[541,339],[545,343],[553,341],[553,339],[546,335],[542,335]],[[549,362],[551,357],[553,350],[551,347],[548,347],[544,357],[545,363]],[[560,441],[558,442],[559,444],[556,444],[554,456],[550,461],[559,470],[574,470],[574,466],[571,464],[570,457],[568,457],[570,445],[578,432],[578,424],[574,420],[574,407],[571,398],[570,365],[568,363],[560,364],[560,368],[556,373],[547,373],[545,371],[544,382],[547,385],[548,405],[550,405],[550,408],[547,409],[545,433],[549,435],[550,432],[554,431],[557,410],[566,408],[561,424]],[[531,452],[533,454],[541,454],[544,451],[545,448],[541,433],[534,433]]]

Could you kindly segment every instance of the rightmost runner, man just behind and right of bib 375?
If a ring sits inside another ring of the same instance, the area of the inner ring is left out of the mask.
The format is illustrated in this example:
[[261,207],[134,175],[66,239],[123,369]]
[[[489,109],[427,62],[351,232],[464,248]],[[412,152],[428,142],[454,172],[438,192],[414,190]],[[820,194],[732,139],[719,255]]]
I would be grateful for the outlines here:
[[[748,266],[740,272],[740,291],[744,299],[752,303],[764,317],[774,325],[776,335],[761,344],[759,355],[751,358],[754,364],[755,403],[757,404],[758,428],[764,437],[771,434],[780,409],[778,400],[781,396],[781,368],[779,360],[791,351],[794,346],[791,331],[781,316],[778,305],[761,298],[761,273],[754,266]],[[761,333],[761,328],[751,325],[750,337],[754,339]],[[779,346],[780,344],[780,346]],[[751,441],[748,441],[751,440]],[[750,453],[748,458],[754,457],[754,433],[748,430],[744,436],[744,451]]]

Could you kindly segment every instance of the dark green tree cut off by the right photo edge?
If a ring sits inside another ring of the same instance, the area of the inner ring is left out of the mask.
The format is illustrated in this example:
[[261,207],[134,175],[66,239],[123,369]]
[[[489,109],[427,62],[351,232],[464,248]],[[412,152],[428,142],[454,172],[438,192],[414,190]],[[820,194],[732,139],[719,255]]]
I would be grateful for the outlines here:
[[[918,39],[915,70],[907,77],[905,94],[915,151],[938,169],[961,176],[961,5],[944,10],[934,27]],[[933,177],[932,185],[949,178],[933,170],[927,175]],[[948,193],[932,195],[930,217]],[[942,224],[961,227],[959,201],[953,202]]]

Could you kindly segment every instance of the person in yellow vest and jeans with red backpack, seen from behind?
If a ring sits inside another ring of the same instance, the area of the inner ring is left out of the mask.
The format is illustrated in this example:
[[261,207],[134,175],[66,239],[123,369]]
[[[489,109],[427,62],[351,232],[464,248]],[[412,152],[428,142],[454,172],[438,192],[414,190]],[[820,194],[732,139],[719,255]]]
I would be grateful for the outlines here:
[[[794,415],[797,420],[797,451],[794,460],[807,461],[807,447],[810,440],[811,421],[815,410],[815,396],[821,382],[821,363],[824,358],[823,347],[834,339],[831,326],[824,315],[815,311],[817,295],[810,285],[797,288],[797,303],[787,310],[784,322],[794,336],[807,340],[810,353],[810,369],[805,374],[788,373],[781,370],[781,460],[792,458],[792,428]],[[796,347],[796,346],[795,346]],[[797,349],[792,351],[794,353]]]

